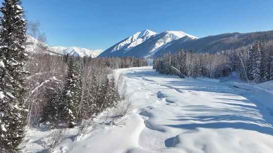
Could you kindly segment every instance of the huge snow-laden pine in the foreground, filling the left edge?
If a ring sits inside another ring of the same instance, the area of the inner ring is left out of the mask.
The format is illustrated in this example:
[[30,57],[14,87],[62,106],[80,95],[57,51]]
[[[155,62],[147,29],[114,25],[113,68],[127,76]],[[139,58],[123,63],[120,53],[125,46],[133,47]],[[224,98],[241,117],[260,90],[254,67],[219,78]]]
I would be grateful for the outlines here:
[[23,67],[26,21],[20,0],[2,3],[0,30],[0,152],[19,152],[24,138],[26,112],[24,95],[27,90]]

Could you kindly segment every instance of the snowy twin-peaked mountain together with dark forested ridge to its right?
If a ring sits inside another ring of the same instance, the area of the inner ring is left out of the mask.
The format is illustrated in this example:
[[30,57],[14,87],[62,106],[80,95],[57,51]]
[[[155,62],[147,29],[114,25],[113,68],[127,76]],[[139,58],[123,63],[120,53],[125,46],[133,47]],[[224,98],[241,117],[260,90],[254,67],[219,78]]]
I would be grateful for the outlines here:
[[182,31],[157,34],[151,30],[137,32],[105,50],[99,57],[134,56],[153,58],[161,54],[176,53],[179,49],[216,53],[252,45],[256,40],[273,40],[273,31],[253,33],[225,33],[197,38]]

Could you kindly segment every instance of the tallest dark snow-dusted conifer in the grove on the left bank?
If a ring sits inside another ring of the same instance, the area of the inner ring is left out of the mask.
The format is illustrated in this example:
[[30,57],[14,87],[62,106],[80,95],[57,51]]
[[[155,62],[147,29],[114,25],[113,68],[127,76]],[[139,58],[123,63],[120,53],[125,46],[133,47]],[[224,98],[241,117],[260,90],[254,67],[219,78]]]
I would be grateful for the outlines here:
[[61,120],[64,120],[69,127],[74,127],[77,122],[76,115],[82,92],[81,84],[81,68],[70,57],[68,59],[66,84],[62,92],[61,103],[59,104]]

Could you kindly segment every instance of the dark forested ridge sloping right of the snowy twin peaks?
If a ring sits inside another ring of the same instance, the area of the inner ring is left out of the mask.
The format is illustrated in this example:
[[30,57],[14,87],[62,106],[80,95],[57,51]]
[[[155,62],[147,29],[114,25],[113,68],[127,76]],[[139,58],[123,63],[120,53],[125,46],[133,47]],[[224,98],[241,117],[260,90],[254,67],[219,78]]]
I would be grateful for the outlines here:
[[[256,40],[272,41],[273,31],[251,33],[225,33],[189,40],[186,37],[172,41],[171,45],[160,48],[153,56],[165,53],[177,53],[179,49],[193,50],[194,52],[216,53],[229,49],[251,46]],[[251,38],[251,39],[250,39]]]

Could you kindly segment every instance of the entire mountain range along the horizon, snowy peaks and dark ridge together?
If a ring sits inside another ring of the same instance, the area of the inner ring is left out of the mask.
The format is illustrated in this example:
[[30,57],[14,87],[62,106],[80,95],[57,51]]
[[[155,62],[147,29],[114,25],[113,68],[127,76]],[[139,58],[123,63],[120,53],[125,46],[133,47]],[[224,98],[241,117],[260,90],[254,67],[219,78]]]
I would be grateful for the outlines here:
[[137,32],[132,36],[113,45],[105,51],[79,47],[50,47],[37,39],[27,36],[26,49],[29,52],[39,52],[61,55],[110,57],[133,56],[154,58],[167,52],[176,53],[179,49],[194,52],[216,53],[229,49],[250,46],[256,40],[273,41],[273,31],[252,33],[225,33],[214,36],[197,38],[182,31],[166,31],[157,34],[151,30]]

